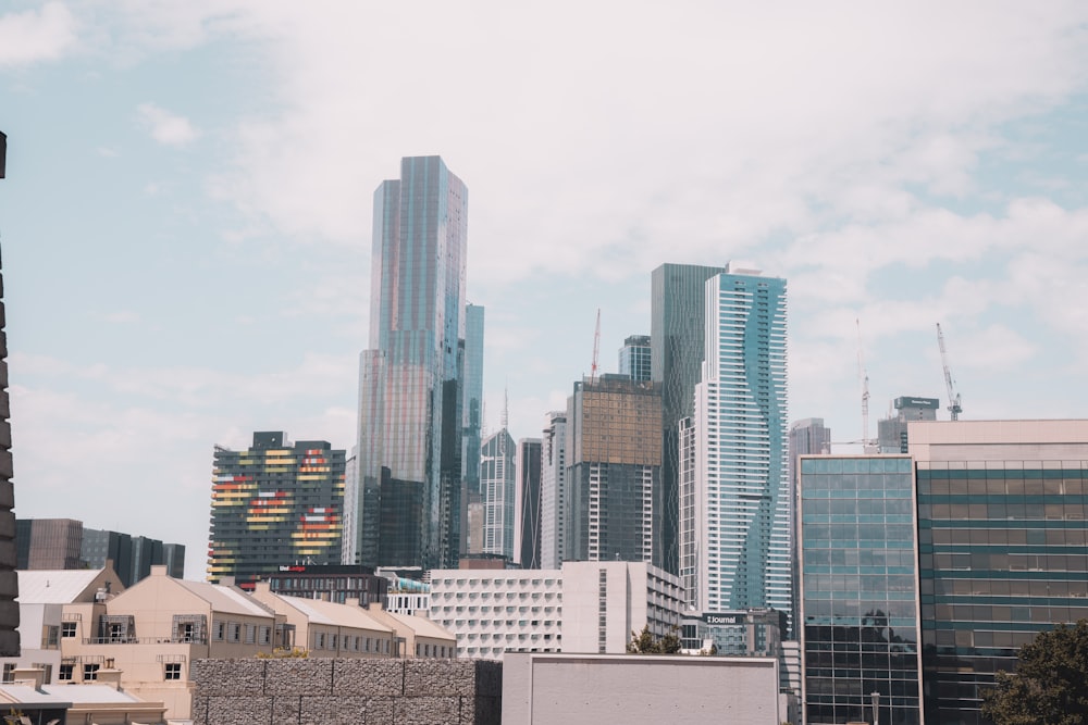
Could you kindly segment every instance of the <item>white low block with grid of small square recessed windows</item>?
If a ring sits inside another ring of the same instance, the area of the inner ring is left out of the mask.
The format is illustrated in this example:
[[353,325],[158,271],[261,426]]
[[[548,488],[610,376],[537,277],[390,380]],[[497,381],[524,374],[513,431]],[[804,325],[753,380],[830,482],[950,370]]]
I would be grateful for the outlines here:
[[679,579],[645,562],[564,562],[549,570],[435,570],[431,620],[454,633],[458,655],[621,653],[648,625],[680,623]]

